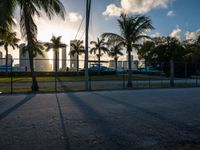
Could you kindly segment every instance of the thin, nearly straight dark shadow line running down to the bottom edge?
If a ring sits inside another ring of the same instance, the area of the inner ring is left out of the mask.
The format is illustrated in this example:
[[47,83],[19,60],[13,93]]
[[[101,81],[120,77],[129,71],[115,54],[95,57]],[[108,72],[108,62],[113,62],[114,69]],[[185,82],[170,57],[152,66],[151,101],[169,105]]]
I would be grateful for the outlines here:
[[59,115],[60,115],[60,122],[61,122],[62,130],[63,130],[63,137],[64,137],[64,141],[65,141],[65,148],[66,148],[66,150],[71,150],[71,146],[70,146],[70,142],[69,142],[69,137],[67,135],[67,130],[66,130],[66,127],[65,127],[64,117],[63,117],[61,105],[60,105],[59,98],[58,98],[57,94],[56,94],[56,101],[57,101],[57,104],[58,104],[58,110],[59,110]]

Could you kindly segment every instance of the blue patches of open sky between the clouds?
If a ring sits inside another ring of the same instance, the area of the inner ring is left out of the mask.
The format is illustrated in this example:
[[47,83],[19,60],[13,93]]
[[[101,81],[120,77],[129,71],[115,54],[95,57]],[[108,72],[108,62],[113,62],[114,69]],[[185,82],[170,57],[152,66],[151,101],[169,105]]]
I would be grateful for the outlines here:
[[[127,0],[128,1],[128,0]],[[132,0],[132,2],[137,0]],[[140,0],[139,0],[140,1]],[[143,0],[148,1],[148,0]],[[162,1],[162,0],[161,0]],[[196,32],[200,28],[200,6],[199,0],[163,0],[166,2],[167,7],[157,6],[155,8],[150,8],[149,11],[144,12],[152,19],[152,23],[155,27],[153,33],[160,33],[161,35],[168,36],[173,30],[177,31],[180,29],[178,34],[180,34],[181,39],[185,39],[186,32]],[[75,0],[65,2],[69,5],[72,11],[78,11],[82,13],[85,9],[85,1]],[[129,0],[131,2],[131,0]],[[155,1],[152,1],[155,2]],[[77,4],[80,4],[77,6]],[[92,27],[96,35],[102,32],[112,31],[119,32],[116,18],[103,16],[102,13],[106,10],[109,4],[115,4],[120,6],[120,0],[93,0],[92,5]],[[81,10],[81,11],[79,11]],[[169,12],[173,12],[171,16],[167,16]],[[130,15],[136,13],[131,13]]]

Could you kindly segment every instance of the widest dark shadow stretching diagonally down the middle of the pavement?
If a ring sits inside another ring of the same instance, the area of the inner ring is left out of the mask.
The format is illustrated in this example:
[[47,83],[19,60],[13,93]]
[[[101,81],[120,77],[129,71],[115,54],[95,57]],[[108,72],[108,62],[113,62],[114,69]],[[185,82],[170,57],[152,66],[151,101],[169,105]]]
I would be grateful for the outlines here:
[[104,135],[105,139],[103,139],[103,141],[105,143],[103,145],[101,144],[104,149],[135,149],[133,140],[129,139],[124,131],[114,126],[112,122],[109,122],[104,115],[97,112],[75,94],[68,93],[66,96],[79,108],[81,114],[87,119],[92,127],[95,128],[98,133]]

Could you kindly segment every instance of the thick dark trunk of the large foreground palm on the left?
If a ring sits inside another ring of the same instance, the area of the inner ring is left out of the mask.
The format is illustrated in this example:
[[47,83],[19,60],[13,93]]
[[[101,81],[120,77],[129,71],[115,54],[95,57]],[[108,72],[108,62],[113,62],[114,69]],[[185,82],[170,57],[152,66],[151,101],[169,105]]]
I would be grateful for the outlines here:
[[25,30],[26,30],[26,34],[27,34],[27,46],[28,46],[28,55],[29,55],[29,63],[30,63],[30,70],[31,70],[31,77],[32,77],[32,85],[31,85],[31,89],[32,92],[36,92],[39,91],[39,86],[36,80],[36,75],[35,75],[35,71],[34,71],[34,64],[33,64],[33,44],[34,44],[34,40],[32,37],[34,37],[34,35],[31,32],[31,27],[29,24],[29,18],[31,17],[31,15],[28,13],[28,10],[26,7],[24,7],[23,9],[23,13],[25,13]]

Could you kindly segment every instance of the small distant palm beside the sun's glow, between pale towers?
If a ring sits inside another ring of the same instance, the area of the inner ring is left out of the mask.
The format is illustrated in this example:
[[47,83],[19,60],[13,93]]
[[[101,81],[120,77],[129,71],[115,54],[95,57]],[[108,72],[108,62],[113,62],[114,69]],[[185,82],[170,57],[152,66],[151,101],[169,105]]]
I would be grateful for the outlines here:
[[65,48],[66,47],[66,44],[62,43],[61,42],[61,36],[52,36],[51,38],[51,43],[45,43],[45,46],[47,47],[46,51],[49,51],[49,50],[53,50],[53,53],[54,53],[54,57],[55,57],[55,60],[54,60],[54,71],[57,73],[58,71],[58,64],[59,64],[59,49],[60,48]]

